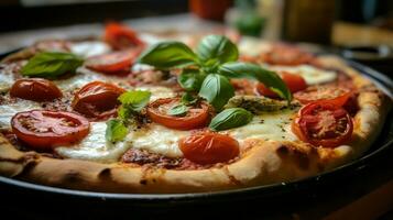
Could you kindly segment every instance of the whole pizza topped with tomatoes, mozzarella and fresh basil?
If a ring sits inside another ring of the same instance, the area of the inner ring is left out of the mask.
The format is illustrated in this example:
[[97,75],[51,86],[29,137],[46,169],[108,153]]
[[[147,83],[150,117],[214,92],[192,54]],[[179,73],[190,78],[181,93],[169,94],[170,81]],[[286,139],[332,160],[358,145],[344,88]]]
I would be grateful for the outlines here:
[[[229,34],[228,34],[229,33]],[[45,40],[0,65],[0,174],[89,191],[287,183],[361,156],[391,99],[345,61],[231,32]]]

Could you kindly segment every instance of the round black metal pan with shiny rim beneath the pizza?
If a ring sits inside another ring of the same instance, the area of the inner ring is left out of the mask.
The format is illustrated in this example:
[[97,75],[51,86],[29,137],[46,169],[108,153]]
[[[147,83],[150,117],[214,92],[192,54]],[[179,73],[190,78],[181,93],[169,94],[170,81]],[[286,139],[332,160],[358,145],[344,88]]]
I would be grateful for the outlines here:
[[[386,76],[361,64],[348,61],[348,64],[359,70],[362,75],[373,80],[378,87],[389,97],[393,97],[393,81]],[[393,146],[393,117],[392,113],[386,117],[384,128],[378,141],[360,158],[349,162],[340,167],[321,173],[317,176],[297,179],[290,183],[279,183],[273,185],[241,188],[234,190],[197,193],[197,194],[107,194],[70,190],[42,186],[31,183],[0,177],[0,190],[3,198],[23,198],[24,201],[33,205],[37,198],[47,202],[68,202],[74,206],[105,205],[106,210],[114,206],[133,207],[139,211],[144,208],[155,207],[154,211],[171,208],[195,207],[197,205],[222,205],[226,202],[242,204],[243,201],[256,201],[259,205],[291,202],[294,198],[298,200],[302,197],[315,197],[328,188],[339,187],[349,179],[356,179],[357,176],[364,175],[368,167],[378,165],[381,161],[386,161],[392,156]],[[319,191],[319,193],[318,193]],[[21,201],[19,201],[21,202]],[[247,204],[242,204],[243,206]],[[255,205],[255,204],[253,204]],[[41,206],[41,205],[40,205]],[[150,209],[150,211],[152,211]]]

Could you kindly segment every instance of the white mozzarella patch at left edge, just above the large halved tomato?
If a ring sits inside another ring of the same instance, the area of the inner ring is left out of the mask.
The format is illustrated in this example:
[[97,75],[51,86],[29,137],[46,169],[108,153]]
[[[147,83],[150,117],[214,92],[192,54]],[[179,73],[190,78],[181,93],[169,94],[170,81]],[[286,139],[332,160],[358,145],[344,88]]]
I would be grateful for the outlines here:
[[15,103],[0,105],[0,129],[9,129],[11,118],[22,111],[41,109],[39,102],[20,99]]

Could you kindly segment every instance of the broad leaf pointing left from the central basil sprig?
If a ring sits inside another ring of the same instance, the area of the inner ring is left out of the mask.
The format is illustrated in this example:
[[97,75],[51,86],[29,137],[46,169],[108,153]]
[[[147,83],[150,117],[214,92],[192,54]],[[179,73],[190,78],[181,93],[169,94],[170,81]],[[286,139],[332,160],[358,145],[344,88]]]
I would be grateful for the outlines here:
[[139,57],[139,63],[165,69],[197,64],[194,52],[181,42],[163,42],[148,48]]

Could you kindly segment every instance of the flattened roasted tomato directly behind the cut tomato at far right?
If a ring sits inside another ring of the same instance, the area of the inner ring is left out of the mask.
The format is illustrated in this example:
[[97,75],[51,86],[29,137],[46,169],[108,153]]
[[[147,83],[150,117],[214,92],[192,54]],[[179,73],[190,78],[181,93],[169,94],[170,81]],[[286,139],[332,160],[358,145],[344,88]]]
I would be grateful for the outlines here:
[[351,96],[352,92],[349,89],[331,85],[312,86],[294,94],[295,99],[303,105],[318,100],[328,100],[338,107],[342,107]]

